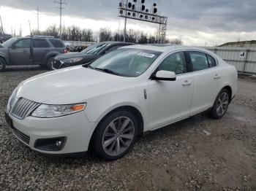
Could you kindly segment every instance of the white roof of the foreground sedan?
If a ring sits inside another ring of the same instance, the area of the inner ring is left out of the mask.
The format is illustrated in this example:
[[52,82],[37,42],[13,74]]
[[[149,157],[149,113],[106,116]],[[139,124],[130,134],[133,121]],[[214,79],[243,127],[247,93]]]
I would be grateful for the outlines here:
[[144,45],[144,44],[134,44],[127,47],[121,47],[121,48],[134,48],[134,49],[141,49],[141,50],[152,50],[152,51],[158,51],[158,52],[170,52],[171,50],[198,50],[198,51],[204,51],[209,52],[208,50],[200,47],[187,47],[187,46],[181,46],[181,45],[170,45],[170,44],[154,44],[154,45]]

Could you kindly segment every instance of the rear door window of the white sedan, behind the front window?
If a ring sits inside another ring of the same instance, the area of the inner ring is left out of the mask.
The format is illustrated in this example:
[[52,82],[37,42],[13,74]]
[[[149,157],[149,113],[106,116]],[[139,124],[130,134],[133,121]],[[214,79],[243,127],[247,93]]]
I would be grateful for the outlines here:
[[200,71],[203,69],[208,69],[208,61],[206,54],[203,52],[189,52],[190,59],[192,61],[193,70]]

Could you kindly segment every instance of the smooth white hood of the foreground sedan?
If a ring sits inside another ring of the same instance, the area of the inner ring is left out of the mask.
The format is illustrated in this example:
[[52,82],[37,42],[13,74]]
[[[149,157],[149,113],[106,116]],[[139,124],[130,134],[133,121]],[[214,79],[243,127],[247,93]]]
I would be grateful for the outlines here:
[[75,104],[86,102],[116,84],[129,80],[83,66],[39,74],[18,85],[18,98],[23,97],[42,104]]

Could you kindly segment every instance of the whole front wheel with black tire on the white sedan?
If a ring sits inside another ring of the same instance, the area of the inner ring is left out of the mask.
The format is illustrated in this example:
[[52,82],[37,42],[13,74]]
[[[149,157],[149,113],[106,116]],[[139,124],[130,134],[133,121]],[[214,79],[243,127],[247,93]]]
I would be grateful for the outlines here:
[[127,111],[114,112],[107,115],[97,126],[92,151],[102,159],[116,160],[129,152],[137,135],[138,122],[135,116]]

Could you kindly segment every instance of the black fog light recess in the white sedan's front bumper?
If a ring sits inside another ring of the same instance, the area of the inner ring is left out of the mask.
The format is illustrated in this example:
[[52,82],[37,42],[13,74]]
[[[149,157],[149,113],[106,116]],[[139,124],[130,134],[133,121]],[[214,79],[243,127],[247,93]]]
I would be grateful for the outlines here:
[[34,143],[34,147],[45,151],[60,151],[64,148],[66,140],[66,137],[37,139],[37,141]]

